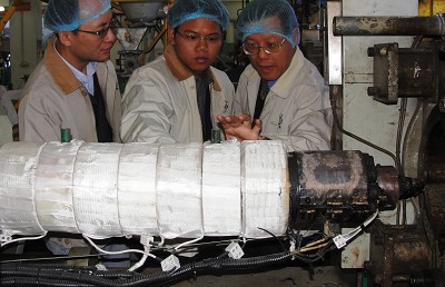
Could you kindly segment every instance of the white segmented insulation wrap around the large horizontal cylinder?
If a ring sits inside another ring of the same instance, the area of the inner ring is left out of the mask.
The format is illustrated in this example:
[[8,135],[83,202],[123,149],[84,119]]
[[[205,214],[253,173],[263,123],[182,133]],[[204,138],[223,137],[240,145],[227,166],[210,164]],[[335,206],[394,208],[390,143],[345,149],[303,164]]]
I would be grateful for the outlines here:
[[0,146],[0,229],[92,238],[268,237],[286,231],[280,141]]

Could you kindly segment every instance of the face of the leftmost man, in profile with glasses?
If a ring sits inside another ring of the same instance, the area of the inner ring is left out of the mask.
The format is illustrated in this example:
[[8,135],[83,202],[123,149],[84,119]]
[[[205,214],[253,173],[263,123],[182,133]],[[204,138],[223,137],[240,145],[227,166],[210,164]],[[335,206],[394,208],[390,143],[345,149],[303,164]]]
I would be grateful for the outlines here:
[[117,40],[112,29],[109,29],[111,18],[112,12],[108,11],[98,19],[83,23],[73,32],[70,52],[75,61],[88,63],[109,60],[111,48]]

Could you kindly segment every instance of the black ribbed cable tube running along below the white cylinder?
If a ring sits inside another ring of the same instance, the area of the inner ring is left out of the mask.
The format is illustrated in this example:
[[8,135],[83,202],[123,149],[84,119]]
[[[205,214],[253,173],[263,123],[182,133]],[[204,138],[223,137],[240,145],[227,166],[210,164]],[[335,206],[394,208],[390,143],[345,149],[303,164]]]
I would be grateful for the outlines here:
[[[131,278],[119,278],[116,280],[105,278],[106,271],[81,271],[78,268],[62,267],[52,268],[37,268],[31,266],[7,266],[0,269],[1,286],[147,286],[168,284],[179,280],[185,277],[196,276],[197,273],[221,274],[235,270],[248,270],[255,268],[263,268],[287,263],[293,259],[289,251],[251,257],[240,258],[238,260],[231,258],[211,258],[197,263],[187,264],[174,273],[159,273],[154,275],[138,275],[135,274]],[[55,270],[57,269],[57,271]],[[123,275],[128,275],[123,273]],[[116,273],[112,275],[116,277]],[[55,284],[61,285],[55,285]]]

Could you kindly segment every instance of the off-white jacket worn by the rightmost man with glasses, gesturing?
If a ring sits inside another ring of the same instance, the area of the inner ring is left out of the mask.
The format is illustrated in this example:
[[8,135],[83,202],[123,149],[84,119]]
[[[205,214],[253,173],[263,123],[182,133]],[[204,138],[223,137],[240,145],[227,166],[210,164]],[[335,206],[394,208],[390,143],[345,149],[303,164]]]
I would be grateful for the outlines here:
[[[235,113],[254,116],[259,81],[258,72],[249,65],[239,78]],[[299,49],[270,88],[260,120],[261,136],[283,140],[288,152],[330,149],[329,88]]]

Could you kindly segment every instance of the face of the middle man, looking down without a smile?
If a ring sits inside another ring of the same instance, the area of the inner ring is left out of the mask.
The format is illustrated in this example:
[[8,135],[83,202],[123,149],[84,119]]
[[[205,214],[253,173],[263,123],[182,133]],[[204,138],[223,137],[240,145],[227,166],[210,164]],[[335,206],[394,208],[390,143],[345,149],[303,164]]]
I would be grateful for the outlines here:
[[196,75],[215,62],[222,46],[221,27],[202,18],[180,24],[176,32],[169,28],[168,36],[178,58]]

